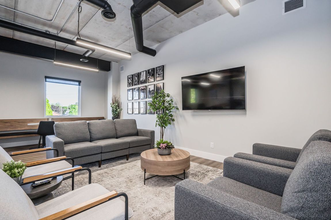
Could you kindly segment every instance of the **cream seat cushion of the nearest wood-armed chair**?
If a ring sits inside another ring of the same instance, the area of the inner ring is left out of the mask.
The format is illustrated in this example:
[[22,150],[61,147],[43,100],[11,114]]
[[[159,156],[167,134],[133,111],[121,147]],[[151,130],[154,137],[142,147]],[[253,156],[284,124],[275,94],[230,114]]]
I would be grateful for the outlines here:
[[[36,206],[40,218],[62,211],[66,208],[70,208],[79,203],[88,201],[90,199],[102,196],[109,193],[109,190],[103,186],[93,183],[74,191],[70,191],[57,198],[48,200],[40,205]],[[133,215],[132,209],[129,207],[129,217]],[[90,208],[86,211],[78,213],[68,219],[77,220],[90,220],[90,219],[111,219],[111,220],[123,220],[124,219],[124,202],[115,198],[107,201],[103,204]]]

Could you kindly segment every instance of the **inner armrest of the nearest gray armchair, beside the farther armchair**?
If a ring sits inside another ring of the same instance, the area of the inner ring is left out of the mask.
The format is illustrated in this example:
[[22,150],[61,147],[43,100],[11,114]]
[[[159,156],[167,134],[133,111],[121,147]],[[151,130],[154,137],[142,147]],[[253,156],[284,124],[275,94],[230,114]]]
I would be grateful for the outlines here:
[[292,169],[245,160],[224,159],[223,176],[260,190],[282,196]]

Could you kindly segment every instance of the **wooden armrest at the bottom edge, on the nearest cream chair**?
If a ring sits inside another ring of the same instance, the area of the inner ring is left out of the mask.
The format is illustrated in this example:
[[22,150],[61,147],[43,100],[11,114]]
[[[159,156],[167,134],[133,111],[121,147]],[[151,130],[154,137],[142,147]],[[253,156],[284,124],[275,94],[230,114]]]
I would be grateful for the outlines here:
[[56,212],[52,215],[46,216],[39,220],[62,220],[62,219],[68,218],[74,214],[77,214],[81,211],[89,209],[93,206],[99,205],[100,203],[108,201],[110,198],[113,198],[114,196],[117,196],[117,195],[118,195],[118,193],[116,191],[112,191],[112,192],[106,193],[102,196],[99,196],[97,198],[93,198],[88,201],[82,202],[80,204],[74,205],[70,208],[66,208],[62,211]]

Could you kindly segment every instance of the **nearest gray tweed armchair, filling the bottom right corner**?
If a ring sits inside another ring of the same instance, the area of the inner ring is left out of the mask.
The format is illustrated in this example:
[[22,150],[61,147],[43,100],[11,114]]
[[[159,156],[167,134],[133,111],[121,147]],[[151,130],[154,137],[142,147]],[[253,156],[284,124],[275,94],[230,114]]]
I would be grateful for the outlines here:
[[224,176],[175,186],[175,220],[331,219],[331,143],[313,141],[294,169],[228,157]]

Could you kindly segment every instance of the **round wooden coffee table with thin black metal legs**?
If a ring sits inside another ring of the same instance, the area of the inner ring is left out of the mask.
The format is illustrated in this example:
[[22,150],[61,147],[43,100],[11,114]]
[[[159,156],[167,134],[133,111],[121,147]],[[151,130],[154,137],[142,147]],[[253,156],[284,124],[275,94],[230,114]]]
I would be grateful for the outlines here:
[[[140,156],[141,169],[144,170],[144,185],[146,180],[159,175],[184,174],[185,179],[185,172],[190,169],[190,153],[181,149],[172,149],[170,155],[159,155],[158,149],[155,148],[142,152]],[[146,178],[146,173],[155,176]]]

